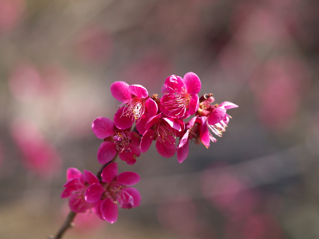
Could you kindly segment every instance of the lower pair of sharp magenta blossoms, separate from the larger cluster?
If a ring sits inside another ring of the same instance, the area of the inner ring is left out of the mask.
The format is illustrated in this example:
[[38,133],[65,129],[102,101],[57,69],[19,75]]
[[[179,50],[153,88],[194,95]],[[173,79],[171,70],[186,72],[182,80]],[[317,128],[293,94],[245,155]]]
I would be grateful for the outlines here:
[[67,182],[61,198],[70,198],[70,209],[75,213],[83,213],[94,207],[100,219],[114,223],[117,220],[119,204],[122,208],[137,207],[141,195],[135,188],[140,176],[135,172],[122,172],[118,175],[117,163],[110,163],[101,173],[102,180],[90,171],[83,174],[76,168],[67,170]]

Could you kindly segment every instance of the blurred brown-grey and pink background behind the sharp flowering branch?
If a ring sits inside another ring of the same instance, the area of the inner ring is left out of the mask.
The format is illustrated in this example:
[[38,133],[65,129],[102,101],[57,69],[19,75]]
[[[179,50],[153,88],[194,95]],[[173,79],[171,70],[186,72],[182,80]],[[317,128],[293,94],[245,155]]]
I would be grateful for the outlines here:
[[318,16],[316,0],[0,0],[0,237],[56,233],[66,169],[100,168],[111,83],[160,95],[192,71],[239,105],[223,137],[182,164],[154,143],[119,160],[141,206],[80,214],[64,238],[318,238]]

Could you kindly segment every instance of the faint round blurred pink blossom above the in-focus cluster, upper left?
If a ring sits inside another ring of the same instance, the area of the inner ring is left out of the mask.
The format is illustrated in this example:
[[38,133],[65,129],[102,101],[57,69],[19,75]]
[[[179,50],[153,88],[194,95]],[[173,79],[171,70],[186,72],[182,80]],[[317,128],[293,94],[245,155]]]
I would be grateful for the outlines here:
[[76,54],[85,63],[107,61],[113,51],[111,35],[99,25],[87,25],[78,35]]

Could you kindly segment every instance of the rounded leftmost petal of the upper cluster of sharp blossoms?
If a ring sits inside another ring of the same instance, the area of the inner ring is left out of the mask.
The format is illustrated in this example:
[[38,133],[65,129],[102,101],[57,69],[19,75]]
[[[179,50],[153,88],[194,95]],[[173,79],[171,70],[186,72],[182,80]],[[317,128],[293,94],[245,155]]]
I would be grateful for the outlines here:
[[99,139],[105,139],[114,134],[114,123],[106,117],[96,118],[92,123],[92,131]]

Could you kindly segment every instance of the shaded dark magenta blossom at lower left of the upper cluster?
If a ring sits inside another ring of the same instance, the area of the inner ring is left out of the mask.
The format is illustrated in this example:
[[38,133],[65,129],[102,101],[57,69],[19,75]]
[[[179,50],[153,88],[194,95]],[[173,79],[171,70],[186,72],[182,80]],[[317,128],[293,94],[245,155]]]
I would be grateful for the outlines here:
[[99,163],[110,162],[118,152],[119,158],[131,165],[141,155],[141,137],[135,132],[118,129],[112,120],[106,117],[96,118],[92,123],[92,130],[96,137],[104,139],[97,154]]

